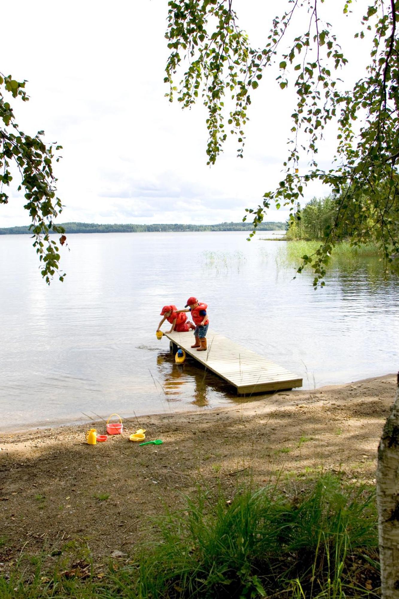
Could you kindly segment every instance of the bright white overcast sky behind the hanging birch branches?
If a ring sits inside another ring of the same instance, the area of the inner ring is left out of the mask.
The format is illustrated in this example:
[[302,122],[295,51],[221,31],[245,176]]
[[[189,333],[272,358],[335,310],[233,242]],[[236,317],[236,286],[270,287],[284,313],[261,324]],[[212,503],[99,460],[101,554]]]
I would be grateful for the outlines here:
[[[235,8],[250,41],[262,44],[273,3],[236,0]],[[231,136],[207,167],[205,109],[182,110],[165,98],[167,10],[167,0],[13,0],[0,71],[28,80],[29,102],[10,96],[20,128],[43,129],[46,142],[63,146],[55,165],[65,206],[59,222],[238,222],[283,178],[294,92],[280,90],[273,72],[264,77],[251,95],[244,158],[236,158]],[[331,2],[329,11],[331,20]],[[319,164],[328,167],[333,155],[331,133]],[[305,200],[328,192],[314,184]],[[272,207],[265,220],[287,216]],[[11,187],[0,226],[28,223],[23,196]]]

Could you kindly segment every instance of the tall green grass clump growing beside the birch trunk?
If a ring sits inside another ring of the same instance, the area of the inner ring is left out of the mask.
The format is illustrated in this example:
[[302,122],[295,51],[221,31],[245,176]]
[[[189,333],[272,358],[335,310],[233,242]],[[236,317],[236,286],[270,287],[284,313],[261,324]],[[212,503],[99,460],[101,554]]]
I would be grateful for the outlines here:
[[138,597],[368,597],[353,555],[375,552],[372,492],[321,476],[289,502],[276,488],[244,491],[231,504],[199,492],[161,522],[161,541],[140,562]]

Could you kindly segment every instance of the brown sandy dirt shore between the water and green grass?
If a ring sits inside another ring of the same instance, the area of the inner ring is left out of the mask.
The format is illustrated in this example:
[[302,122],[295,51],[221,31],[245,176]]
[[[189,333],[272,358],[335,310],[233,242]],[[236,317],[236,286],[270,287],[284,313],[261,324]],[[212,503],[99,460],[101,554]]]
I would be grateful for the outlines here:
[[[122,435],[85,443],[87,425],[34,429],[0,437],[0,574],[22,558],[47,565],[70,553],[95,564],[128,559],[155,534],[150,516],[183,505],[196,485],[220,485],[231,498],[243,480],[280,476],[300,490],[320,470],[375,482],[383,423],[395,397],[387,375],[313,391],[262,395],[241,406],[140,417],[146,440]],[[105,432],[97,422],[98,433]],[[69,553],[68,553],[69,552]],[[69,564],[70,565],[70,564]]]

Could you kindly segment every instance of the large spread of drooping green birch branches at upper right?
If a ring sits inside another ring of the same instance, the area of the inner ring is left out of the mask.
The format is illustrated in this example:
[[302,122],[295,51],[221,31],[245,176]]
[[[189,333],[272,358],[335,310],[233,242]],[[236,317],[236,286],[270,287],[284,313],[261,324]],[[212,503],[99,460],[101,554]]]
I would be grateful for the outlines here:
[[[165,81],[170,84],[170,101],[177,96],[183,107],[201,96],[208,111],[208,164],[214,164],[222,151],[226,129],[237,136],[237,154],[242,157],[250,95],[268,66],[277,65],[281,89],[294,86],[297,102],[288,127],[291,137],[284,176],[276,189],[264,193],[258,207],[247,208],[253,217],[250,237],[271,202],[277,208],[288,205],[294,219],[295,205],[306,186],[317,180],[334,193],[335,219],[325,226],[321,247],[304,258],[298,272],[310,264],[313,284],[324,285],[328,258],[343,237],[355,246],[376,242],[385,267],[399,272],[399,1],[374,0],[353,25],[359,52],[367,53],[370,60],[350,89],[340,78],[347,58],[327,21],[331,0],[280,3],[286,10],[270,23],[261,48],[250,45],[233,4],[234,0],[168,2],[166,37],[171,54]],[[351,0],[343,2],[342,10],[354,19],[350,5]],[[306,22],[299,35],[298,22]],[[176,85],[179,68],[185,72]],[[225,108],[225,96],[232,102],[231,110]],[[335,156],[332,167],[324,170],[318,165],[318,149],[326,126],[333,122]]]

